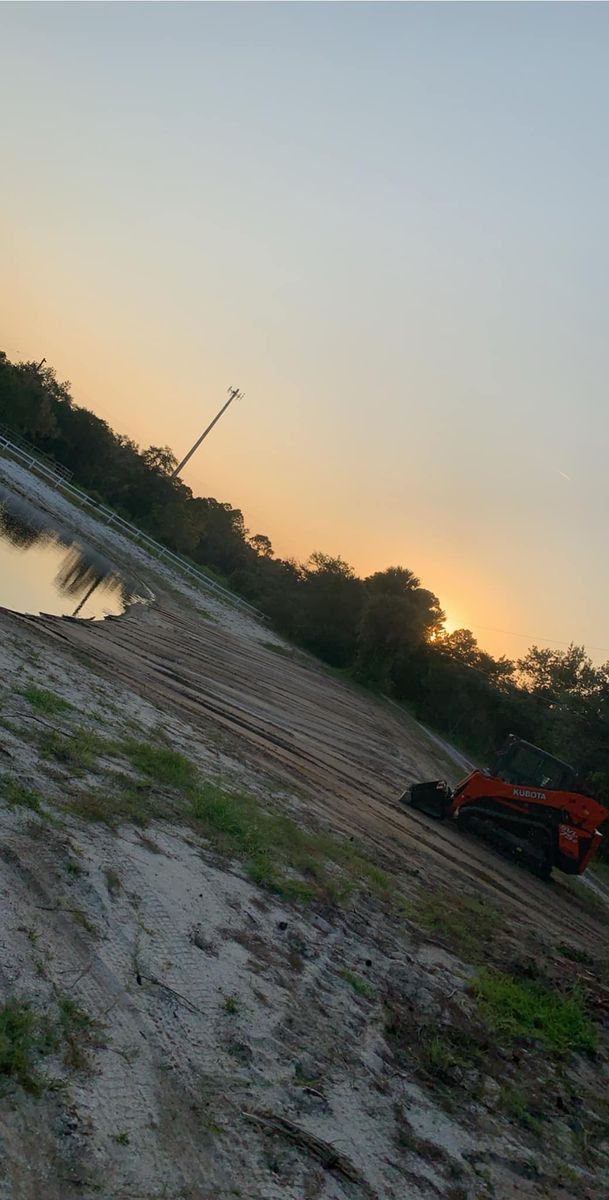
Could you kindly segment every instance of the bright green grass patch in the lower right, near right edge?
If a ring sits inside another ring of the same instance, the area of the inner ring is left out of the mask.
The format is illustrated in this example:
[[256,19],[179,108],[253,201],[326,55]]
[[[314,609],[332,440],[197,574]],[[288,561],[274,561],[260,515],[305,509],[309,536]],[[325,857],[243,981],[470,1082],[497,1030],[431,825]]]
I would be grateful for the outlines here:
[[575,990],[561,995],[537,980],[482,970],[474,995],[484,1022],[505,1042],[532,1038],[560,1056],[596,1049],[596,1030]]

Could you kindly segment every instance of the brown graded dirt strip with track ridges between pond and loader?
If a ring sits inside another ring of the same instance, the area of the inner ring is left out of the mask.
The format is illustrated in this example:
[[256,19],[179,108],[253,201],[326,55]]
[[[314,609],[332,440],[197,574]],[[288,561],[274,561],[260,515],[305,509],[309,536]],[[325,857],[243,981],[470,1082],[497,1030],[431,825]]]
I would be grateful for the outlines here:
[[297,652],[169,605],[102,624],[41,618],[36,625],[162,710],[186,718],[204,739],[210,727],[237,737],[245,761],[296,787],[321,820],[366,836],[381,857],[440,886],[466,882],[499,896],[514,919],[554,941],[604,940],[603,924],[560,880],[542,883],[451,826],[400,805],[416,780],[458,778],[454,762],[408,714]]

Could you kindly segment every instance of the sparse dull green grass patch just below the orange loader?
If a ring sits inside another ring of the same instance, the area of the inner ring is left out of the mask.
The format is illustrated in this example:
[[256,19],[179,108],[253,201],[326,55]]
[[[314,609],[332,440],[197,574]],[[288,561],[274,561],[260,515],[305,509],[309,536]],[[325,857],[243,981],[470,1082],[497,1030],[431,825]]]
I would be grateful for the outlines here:
[[472,961],[488,958],[499,924],[499,914],[476,896],[423,894],[404,908],[405,916],[428,934]]

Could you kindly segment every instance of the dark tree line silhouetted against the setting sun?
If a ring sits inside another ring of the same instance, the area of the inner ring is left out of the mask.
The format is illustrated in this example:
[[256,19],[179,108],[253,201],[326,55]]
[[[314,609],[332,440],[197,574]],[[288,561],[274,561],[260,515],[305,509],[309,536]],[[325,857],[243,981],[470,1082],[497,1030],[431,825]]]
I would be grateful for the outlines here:
[[276,556],[240,509],[193,496],[171,478],[168,446],[141,450],[115,433],[74,403],[49,366],[0,353],[0,420],[68,468],[90,496],[218,572],[297,646],[482,758],[508,733],[543,746],[572,762],[609,805],[609,662],[596,666],[575,644],[494,658],[470,630],[446,631],[438,596],[408,568],[360,578],[320,551],[306,563]]

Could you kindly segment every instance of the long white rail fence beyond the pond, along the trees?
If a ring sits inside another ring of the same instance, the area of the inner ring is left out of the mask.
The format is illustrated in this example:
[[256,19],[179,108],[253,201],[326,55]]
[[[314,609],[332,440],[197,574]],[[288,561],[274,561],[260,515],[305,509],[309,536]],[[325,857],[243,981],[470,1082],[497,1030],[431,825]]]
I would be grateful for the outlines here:
[[265,613],[260,612],[260,610],[253,604],[248,604],[247,600],[242,600],[241,596],[235,595],[234,592],[229,592],[228,588],[223,588],[222,583],[216,583],[215,580],[210,580],[209,575],[200,571],[198,566],[194,566],[186,558],[181,558],[180,554],[174,554],[173,550],[168,550],[168,547],[163,546],[162,542],[155,541],[153,538],[150,538],[147,533],[143,532],[143,529],[138,529],[138,527],[132,524],[131,521],[125,521],[125,518],[119,516],[114,509],[109,509],[105,504],[100,504],[97,500],[92,500],[86,492],[83,492],[79,487],[71,484],[68,479],[59,474],[54,469],[54,466],[48,466],[46,462],[42,462],[36,454],[22,449],[14,443],[14,440],[7,438],[6,434],[1,432],[0,427],[0,452],[1,451],[17,460],[19,466],[26,467],[28,470],[38,474],[44,482],[53,486],[54,491],[60,491],[62,494],[79,504],[80,508],[89,509],[89,511],[107,527],[111,526],[113,529],[122,533],[126,538],[131,538],[139,546],[144,546],[157,558],[176,566],[180,571],[195,580],[204,588],[207,588],[210,592],[216,593],[225,600],[230,600],[230,602],[236,605],[239,608],[254,613],[263,620],[267,619]]

